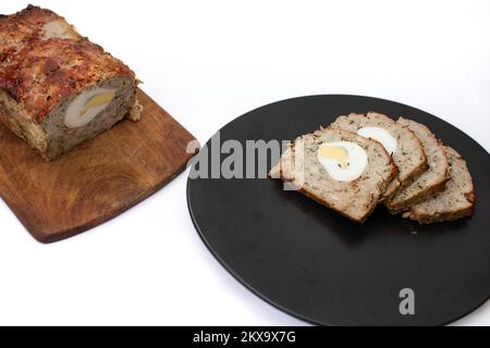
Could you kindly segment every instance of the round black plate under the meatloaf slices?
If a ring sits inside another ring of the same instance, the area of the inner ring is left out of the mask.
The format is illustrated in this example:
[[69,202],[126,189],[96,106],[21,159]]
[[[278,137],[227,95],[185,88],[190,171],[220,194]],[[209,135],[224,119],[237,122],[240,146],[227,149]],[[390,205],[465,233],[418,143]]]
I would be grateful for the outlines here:
[[[378,207],[359,225],[283,190],[278,181],[189,178],[192,219],[231,274],[296,318],[324,325],[451,323],[485,303],[490,294],[490,157],[475,140],[433,115],[396,102],[314,96],[272,103],[236,119],[220,130],[221,142],[294,139],[339,114],[371,110],[421,122],[461,152],[477,192],[471,219],[420,226]],[[195,170],[196,165],[191,175]],[[415,293],[415,315],[400,312],[405,288]]]

